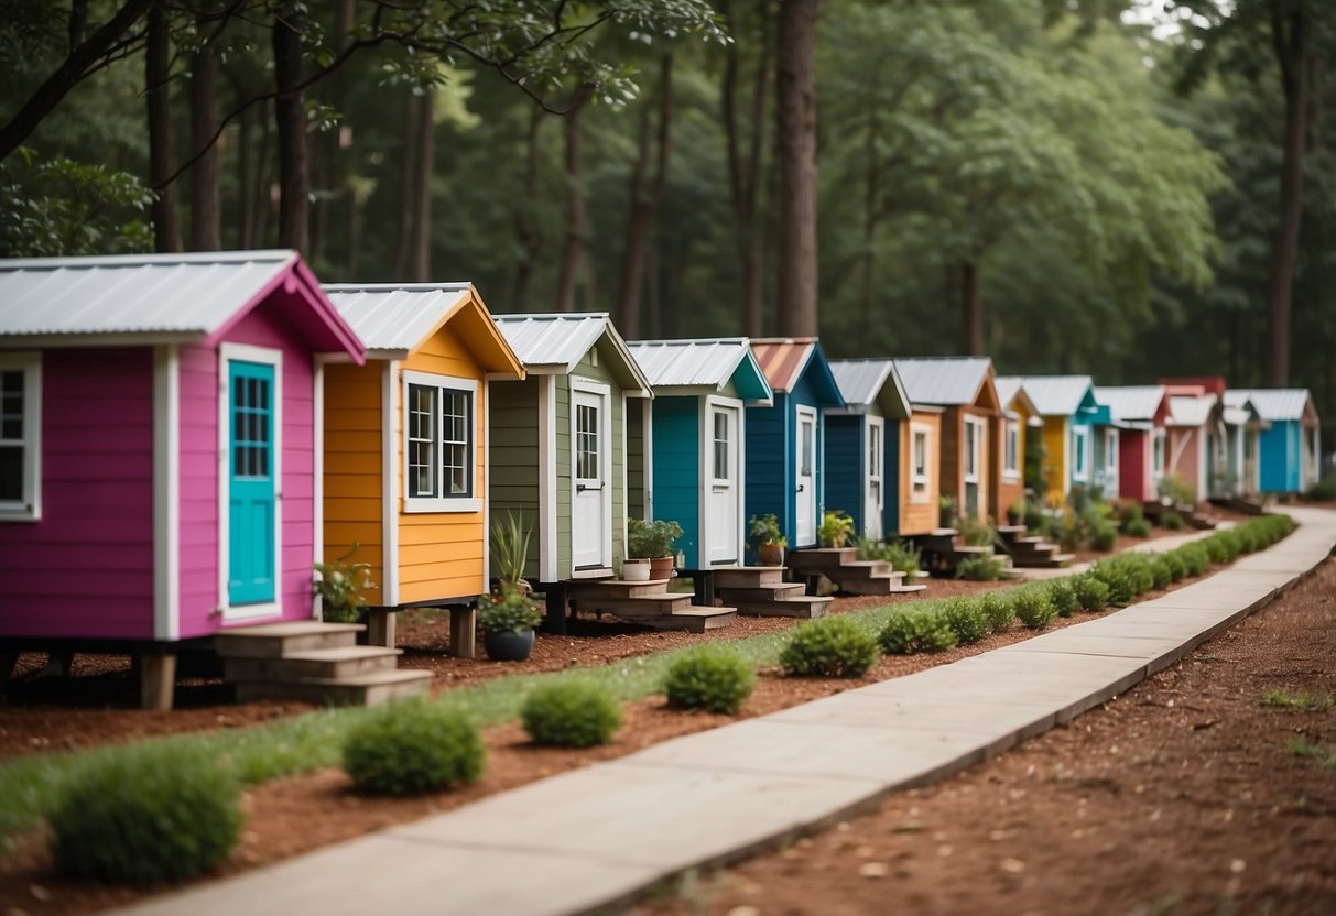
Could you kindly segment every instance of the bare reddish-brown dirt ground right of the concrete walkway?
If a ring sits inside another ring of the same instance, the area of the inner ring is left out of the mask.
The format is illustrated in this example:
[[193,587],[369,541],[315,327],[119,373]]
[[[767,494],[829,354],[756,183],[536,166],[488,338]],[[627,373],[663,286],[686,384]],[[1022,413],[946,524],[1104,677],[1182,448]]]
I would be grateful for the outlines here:
[[1333,693],[1327,563],[1069,726],[636,912],[1332,913]]

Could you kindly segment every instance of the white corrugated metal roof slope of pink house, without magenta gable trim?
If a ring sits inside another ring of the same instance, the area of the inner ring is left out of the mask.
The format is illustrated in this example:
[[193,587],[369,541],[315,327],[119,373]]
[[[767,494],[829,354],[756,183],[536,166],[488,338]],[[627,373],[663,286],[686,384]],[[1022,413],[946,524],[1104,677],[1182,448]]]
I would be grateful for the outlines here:
[[0,336],[208,335],[295,251],[0,260]]

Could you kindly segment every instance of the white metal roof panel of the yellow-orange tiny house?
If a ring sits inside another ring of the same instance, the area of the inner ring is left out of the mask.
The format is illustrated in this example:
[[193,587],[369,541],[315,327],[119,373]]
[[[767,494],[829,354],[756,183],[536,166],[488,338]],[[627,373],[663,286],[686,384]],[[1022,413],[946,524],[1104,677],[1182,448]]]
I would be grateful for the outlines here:
[[469,298],[469,283],[331,283],[321,287],[367,350],[417,349]]

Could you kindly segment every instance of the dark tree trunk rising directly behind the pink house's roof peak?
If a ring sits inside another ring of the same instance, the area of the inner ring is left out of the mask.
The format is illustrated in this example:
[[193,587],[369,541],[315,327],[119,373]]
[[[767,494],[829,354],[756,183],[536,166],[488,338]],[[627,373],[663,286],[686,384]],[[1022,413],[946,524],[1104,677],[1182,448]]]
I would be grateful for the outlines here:
[[[286,12],[290,12],[289,8]],[[310,216],[310,172],[306,154],[302,36],[281,13],[274,19],[274,75],[278,99],[278,244],[306,254]]]

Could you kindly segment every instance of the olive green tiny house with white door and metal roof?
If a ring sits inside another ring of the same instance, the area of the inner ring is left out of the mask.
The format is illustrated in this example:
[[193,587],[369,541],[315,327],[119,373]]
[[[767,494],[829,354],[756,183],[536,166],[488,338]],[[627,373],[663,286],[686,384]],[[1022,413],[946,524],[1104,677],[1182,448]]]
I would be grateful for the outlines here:
[[636,502],[628,453],[644,454],[643,411],[628,403],[652,397],[649,385],[607,314],[497,315],[496,323],[528,378],[492,387],[493,517],[516,513],[533,531],[529,578],[611,576],[625,558]]

